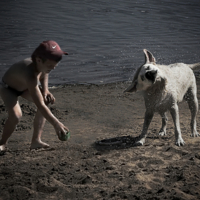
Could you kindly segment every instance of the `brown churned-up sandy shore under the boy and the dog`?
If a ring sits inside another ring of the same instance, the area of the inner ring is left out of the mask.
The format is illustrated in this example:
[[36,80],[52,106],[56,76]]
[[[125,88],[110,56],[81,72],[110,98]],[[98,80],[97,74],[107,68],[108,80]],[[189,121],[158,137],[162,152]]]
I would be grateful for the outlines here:
[[[179,106],[185,146],[175,146],[169,114],[168,135],[158,137],[161,118],[155,114],[145,145],[134,147],[145,108],[140,93],[123,94],[127,85],[52,88],[56,103],[50,109],[68,126],[71,138],[59,141],[47,123],[42,139],[50,144],[48,150],[29,150],[36,107],[20,98],[23,118],[0,154],[0,200],[200,199],[200,138],[190,137],[186,102]],[[200,99],[199,79],[197,85]],[[1,133],[6,117],[0,99]],[[198,131],[199,121],[198,114]],[[98,145],[103,139],[123,142]]]

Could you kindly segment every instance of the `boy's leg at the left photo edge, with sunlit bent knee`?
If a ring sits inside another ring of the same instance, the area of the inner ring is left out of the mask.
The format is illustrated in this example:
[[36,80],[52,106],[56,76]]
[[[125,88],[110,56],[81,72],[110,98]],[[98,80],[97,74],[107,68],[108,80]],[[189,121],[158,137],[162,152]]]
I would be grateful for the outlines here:
[[8,119],[4,125],[2,138],[0,140],[0,151],[4,151],[8,138],[14,132],[16,125],[22,117],[22,112],[16,94],[6,88],[1,88],[0,93],[8,110]]

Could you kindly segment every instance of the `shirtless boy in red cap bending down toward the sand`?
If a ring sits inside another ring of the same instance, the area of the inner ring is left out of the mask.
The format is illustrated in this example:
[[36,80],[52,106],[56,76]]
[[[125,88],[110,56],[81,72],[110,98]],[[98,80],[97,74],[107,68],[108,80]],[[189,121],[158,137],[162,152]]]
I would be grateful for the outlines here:
[[44,41],[35,49],[31,58],[15,63],[4,74],[0,84],[0,95],[8,110],[8,119],[0,140],[0,151],[5,150],[8,138],[22,117],[18,102],[19,96],[34,102],[37,106],[31,149],[49,147],[41,141],[46,120],[53,125],[58,136],[69,131],[48,108],[48,104],[53,104],[55,101],[54,96],[48,90],[49,72],[55,69],[62,55],[67,55],[67,53],[62,51],[55,41]]

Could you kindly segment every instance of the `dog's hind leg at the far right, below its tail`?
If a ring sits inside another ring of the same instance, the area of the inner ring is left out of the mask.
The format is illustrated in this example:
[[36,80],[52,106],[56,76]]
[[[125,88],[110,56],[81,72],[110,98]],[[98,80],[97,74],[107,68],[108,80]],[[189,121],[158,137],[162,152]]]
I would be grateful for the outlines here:
[[189,89],[186,95],[186,101],[188,103],[190,112],[191,112],[191,137],[200,136],[196,129],[196,116],[198,112],[198,99],[196,96],[196,87]]

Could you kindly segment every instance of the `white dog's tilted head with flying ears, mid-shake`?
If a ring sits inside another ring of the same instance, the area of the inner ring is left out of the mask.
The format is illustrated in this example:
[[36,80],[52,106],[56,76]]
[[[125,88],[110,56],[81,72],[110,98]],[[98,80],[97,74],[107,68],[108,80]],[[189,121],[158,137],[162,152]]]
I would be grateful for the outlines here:
[[124,92],[146,90],[156,82],[162,80],[162,74],[156,66],[156,59],[151,52],[146,49],[143,51],[145,54],[145,64],[137,69],[132,84]]

